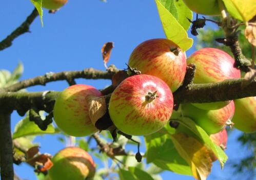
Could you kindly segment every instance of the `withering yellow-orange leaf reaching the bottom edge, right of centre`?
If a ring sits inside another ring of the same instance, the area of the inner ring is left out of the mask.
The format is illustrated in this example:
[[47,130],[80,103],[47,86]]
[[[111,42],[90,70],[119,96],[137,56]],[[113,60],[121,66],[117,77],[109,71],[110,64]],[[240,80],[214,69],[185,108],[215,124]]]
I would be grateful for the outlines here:
[[171,140],[180,155],[190,165],[194,178],[205,180],[212,167],[207,148],[194,137],[184,133],[171,135]]

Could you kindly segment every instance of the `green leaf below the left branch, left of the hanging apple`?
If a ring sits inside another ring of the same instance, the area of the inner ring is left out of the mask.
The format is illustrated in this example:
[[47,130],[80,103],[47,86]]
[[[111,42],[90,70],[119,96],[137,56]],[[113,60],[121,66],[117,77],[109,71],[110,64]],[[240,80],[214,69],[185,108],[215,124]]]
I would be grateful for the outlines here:
[[48,125],[45,131],[41,130],[34,122],[29,121],[29,117],[27,115],[16,124],[12,138],[15,139],[27,135],[53,134],[57,132],[58,131],[54,129],[52,124]]

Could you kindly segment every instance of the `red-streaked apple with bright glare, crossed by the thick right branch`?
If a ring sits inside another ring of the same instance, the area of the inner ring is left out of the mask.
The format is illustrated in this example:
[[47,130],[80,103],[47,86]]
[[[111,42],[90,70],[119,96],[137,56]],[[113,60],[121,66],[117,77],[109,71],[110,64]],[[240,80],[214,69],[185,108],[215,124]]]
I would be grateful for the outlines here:
[[[187,58],[187,64],[196,65],[193,83],[216,83],[230,78],[240,78],[240,70],[234,68],[234,59],[226,52],[215,48],[203,48]],[[230,101],[214,103],[194,103],[205,110],[220,109]]]

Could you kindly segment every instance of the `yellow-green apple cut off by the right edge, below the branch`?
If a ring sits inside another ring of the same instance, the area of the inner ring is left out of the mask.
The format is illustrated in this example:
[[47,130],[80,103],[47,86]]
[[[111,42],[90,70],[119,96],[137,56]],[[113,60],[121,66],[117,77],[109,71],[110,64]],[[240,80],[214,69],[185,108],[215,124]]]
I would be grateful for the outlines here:
[[252,133],[256,131],[256,96],[235,99],[234,127]]

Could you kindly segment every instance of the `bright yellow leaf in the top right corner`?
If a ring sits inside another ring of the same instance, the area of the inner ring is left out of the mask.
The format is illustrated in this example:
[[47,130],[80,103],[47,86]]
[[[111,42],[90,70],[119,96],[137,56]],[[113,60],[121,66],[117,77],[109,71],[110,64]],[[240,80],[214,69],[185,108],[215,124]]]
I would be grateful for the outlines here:
[[230,0],[234,7],[238,10],[244,22],[249,21],[256,15],[256,1],[255,0]]

